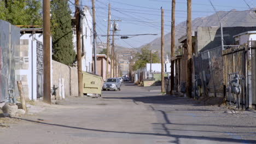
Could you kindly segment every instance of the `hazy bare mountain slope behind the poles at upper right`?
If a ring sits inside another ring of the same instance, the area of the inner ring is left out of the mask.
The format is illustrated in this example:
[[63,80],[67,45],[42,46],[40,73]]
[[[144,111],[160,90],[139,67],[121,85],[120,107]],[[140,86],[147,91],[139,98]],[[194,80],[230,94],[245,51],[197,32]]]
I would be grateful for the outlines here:
[[[255,10],[255,9],[254,9]],[[236,11],[235,9],[231,11],[219,11],[218,16],[220,21],[223,23],[223,27],[250,27],[256,26],[256,13],[252,10],[245,11]],[[196,31],[197,27],[211,27],[211,26],[219,26],[217,14],[213,14],[207,17],[199,17],[192,21],[193,31]],[[184,21],[179,23],[175,29],[175,40],[176,45],[178,44],[178,39],[185,35],[187,32],[187,22]],[[256,29],[255,29],[256,31]],[[165,51],[171,51],[171,33],[165,35]],[[151,43],[149,43],[150,50],[160,50],[161,38],[156,38]],[[144,46],[144,45],[143,45]],[[141,46],[141,47],[143,47]],[[141,48],[140,47],[140,48]]]

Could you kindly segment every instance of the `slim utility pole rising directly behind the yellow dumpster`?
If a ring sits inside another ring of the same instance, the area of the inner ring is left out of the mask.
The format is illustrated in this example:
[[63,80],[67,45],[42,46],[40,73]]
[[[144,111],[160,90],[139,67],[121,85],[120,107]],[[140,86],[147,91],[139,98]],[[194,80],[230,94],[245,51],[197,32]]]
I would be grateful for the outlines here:
[[93,26],[94,26],[94,73],[97,74],[97,53],[96,53],[96,38],[97,38],[97,33],[96,33],[96,22],[95,22],[95,5],[94,5],[94,0],[91,1],[92,3],[92,21],[93,21]]

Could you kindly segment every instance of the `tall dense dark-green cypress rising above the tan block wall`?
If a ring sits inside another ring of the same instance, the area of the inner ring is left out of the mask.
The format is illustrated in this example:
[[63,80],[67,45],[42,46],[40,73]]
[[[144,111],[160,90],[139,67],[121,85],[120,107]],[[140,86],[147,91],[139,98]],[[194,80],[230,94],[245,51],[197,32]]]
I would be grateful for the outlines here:
[[72,65],[75,61],[75,51],[68,0],[51,1],[51,33],[53,59],[66,65]]

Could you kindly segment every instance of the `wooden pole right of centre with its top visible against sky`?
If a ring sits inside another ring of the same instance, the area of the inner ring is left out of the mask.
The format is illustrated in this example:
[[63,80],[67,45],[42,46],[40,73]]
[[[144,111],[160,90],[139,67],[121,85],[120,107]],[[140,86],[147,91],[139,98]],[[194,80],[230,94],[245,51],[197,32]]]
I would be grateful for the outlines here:
[[164,9],[161,9],[161,92],[164,92]]

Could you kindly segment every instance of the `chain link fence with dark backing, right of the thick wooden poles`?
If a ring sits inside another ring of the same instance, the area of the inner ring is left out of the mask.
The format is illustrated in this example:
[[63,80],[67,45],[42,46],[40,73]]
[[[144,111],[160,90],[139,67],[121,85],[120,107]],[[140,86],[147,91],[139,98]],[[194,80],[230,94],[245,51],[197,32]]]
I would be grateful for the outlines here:
[[[194,90],[202,89],[200,93],[214,95],[223,94],[223,57],[222,46],[200,52],[194,56]],[[199,88],[201,87],[201,88]],[[200,90],[199,90],[200,91]]]

